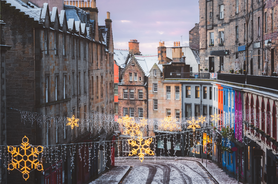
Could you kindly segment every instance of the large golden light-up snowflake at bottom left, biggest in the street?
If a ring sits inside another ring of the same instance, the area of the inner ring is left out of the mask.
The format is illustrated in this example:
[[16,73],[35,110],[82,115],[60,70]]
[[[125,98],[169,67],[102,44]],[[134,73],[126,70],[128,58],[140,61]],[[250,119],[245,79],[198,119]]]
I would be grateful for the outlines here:
[[[24,142],[23,139],[26,138],[27,142]],[[43,170],[43,164],[39,161],[38,154],[43,152],[42,146],[30,146],[29,139],[24,136],[20,147],[8,146],[8,151],[12,153],[12,163],[8,165],[8,170],[17,169],[23,174],[25,181],[29,178],[29,173],[31,169],[37,169],[39,171]],[[39,149],[41,151],[39,151]],[[30,153],[30,154],[29,154]],[[24,163],[24,165],[23,165]],[[31,166],[31,168],[30,168]]]

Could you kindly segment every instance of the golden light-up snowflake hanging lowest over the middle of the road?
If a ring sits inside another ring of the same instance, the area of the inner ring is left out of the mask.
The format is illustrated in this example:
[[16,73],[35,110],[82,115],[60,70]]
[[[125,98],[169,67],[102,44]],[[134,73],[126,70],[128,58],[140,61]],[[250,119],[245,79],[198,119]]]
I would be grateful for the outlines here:
[[[129,152],[129,156],[136,155],[139,157],[139,160],[142,162],[146,154],[154,155],[154,152],[149,148],[152,140],[153,140],[152,138],[149,138],[147,140],[143,139],[141,136],[138,137],[137,139],[129,139],[128,143],[131,144],[132,147],[136,147],[136,148],[132,148],[131,152]],[[145,143],[142,144],[142,141],[145,141]],[[138,150],[139,153],[137,153]]]

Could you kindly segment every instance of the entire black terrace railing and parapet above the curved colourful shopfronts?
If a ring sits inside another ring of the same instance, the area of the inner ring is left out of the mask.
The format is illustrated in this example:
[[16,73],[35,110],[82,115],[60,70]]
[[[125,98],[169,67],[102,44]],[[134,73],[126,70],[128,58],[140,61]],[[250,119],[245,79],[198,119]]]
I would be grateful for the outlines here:
[[[210,73],[181,73],[181,72],[170,72],[165,73],[164,78],[168,79],[209,79]],[[228,74],[228,73],[217,73],[217,80],[234,82],[238,84],[245,84],[245,75],[241,74]],[[246,84],[264,87],[269,89],[278,90],[278,77],[271,76],[246,76]]]

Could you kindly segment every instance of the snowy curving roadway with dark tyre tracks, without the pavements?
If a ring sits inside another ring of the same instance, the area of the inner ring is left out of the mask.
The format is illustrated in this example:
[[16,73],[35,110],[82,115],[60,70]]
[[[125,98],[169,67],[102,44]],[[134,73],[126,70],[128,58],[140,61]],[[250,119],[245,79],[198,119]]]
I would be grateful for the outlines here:
[[[131,172],[122,183],[129,184],[213,184],[217,183],[196,161],[145,159],[126,159],[118,164],[130,165]],[[228,183],[226,183],[228,184]]]

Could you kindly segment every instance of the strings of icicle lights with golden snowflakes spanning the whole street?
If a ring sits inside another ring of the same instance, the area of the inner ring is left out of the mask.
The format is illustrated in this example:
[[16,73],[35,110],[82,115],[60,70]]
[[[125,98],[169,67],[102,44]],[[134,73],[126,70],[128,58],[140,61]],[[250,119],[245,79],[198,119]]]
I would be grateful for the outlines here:
[[[15,109],[17,110],[17,109]],[[19,111],[19,110],[17,110]],[[172,116],[164,117],[163,119],[156,118],[134,118],[134,117],[122,117],[104,113],[84,113],[84,119],[72,117],[56,117],[52,115],[42,115],[40,113],[33,113],[28,111],[19,111],[21,114],[21,122],[36,122],[41,127],[54,126],[56,128],[71,128],[78,127],[80,130],[85,128],[90,131],[101,131],[101,129],[108,131],[113,128],[118,129],[126,138],[121,137],[121,140],[115,141],[94,141],[84,143],[68,143],[68,144],[56,144],[56,145],[40,145],[32,146],[28,143],[28,138],[25,136],[22,139],[21,145],[18,146],[6,146],[0,145],[0,158],[4,158],[4,165],[8,167],[8,170],[17,169],[23,174],[23,178],[27,180],[29,173],[37,169],[43,170],[43,163],[57,163],[63,155],[69,154],[71,158],[71,167],[74,169],[74,157],[78,155],[77,159],[84,161],[84,167],[86,165],[91,167],[91,159],[95,157],[99,158],[100,147],[103,149],[103,163],[107,162],[107,155],[111,158],[111,148],[116,147],[120,150],[120,144],[128,144],[129,156],[138,156],[142,162],[144,156],[156,155],[156,149],[160,148],[161,152],[167,153],[170,156],[170,150],[174,148],[173,155],[176,157],[176,152],[184,149],[193,153],[200,153],[200,149],[205,148],[206,154],[211,154],[213,145],[223,144],[226,146],[226,150],[231,152],[233,139],[243,139],[243,126],[250,126],[251,123],[258,125],[258,117],[266,117],[266,122],[270,122],[271,112],[262,113],[249,113],[249,110],[237,111],[233,113],[214,114],[208,116],[190,117],[190,118],[173,118]],[[254,112],[254,111],[250,111]],[[266,115],[266,116],[262,116]],[[277,116],[277,115],[276,115]],[[273,118],[273,117],[272,117]],[[275,117],[276,118],[276,117]],[[254,123],[255,122],[255,123]],[[270,123],[266,123],[267,129],[272,131]],[[233,129],[236,129],[237,136],[234,134]],[[143,137],[143,131],[155,131],[157,135]],[[257,129],[256,129],[257,130]],[[248,130],[249,131],[249,130]],[[274,130],[276,131],[276,130]],[[212,137],[203,138],[204,133],[206,135],[212,135]],[[240,135],[240,136],[238,136]],[[183,137],[184,136],[184,139]],[[179,139],[178,139],[179,137]],[[224,138],[224,139],[223,139]],[[167,139],[167,148],[161,146],[161,141],[164,145],[164,139]],[[168,146],[168,142],[174,140],[173,147]],[[185,140],[185,141],[184,141]],[[243,139],[243,143],[246,145],[252,141],[249,139]],[[120,143],[122,141],[122,143]],[[160,141],[160,145],[159,145]],[[206,141],[206,145],[202,145],[202,141]],[[153,145],[153,148],[151,148]],[[199,149],[199,150],[198,150]],[[81,152],[84,151],[84,154]],[[110,152],[110,153],[109,153]],[[202,151],[201,151],[202,152]],[[87,154],[86,154],[87,153]],[[82,157],[84,155],[84,157]],[[120,157],[120,151],[118,151],[118,157]],[[166,156],[166,155],[165,155]],[[160,157],[162,155],[160,154]],[[89,158],[89,159],[88,159]],[[121,159],[124,159],[123,155]]]

